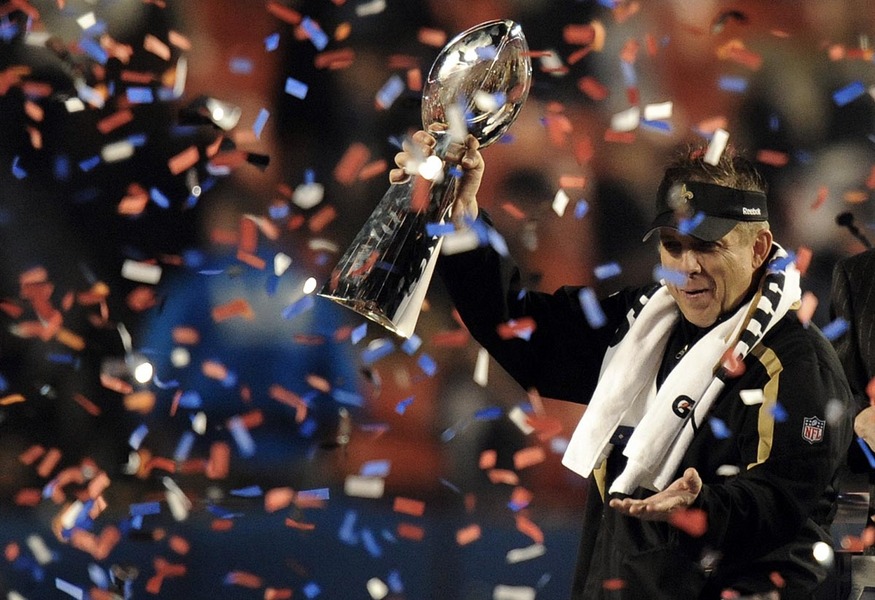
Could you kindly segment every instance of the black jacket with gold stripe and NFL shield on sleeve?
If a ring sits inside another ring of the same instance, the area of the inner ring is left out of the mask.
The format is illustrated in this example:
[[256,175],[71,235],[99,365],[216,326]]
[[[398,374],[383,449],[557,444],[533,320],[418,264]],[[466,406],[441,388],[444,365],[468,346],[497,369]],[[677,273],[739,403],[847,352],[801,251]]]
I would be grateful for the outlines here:
[[[438,271],[471,334],[521,386],[579,403],[592,394],[605,350],[624,333],[634,300],[652,291],[602,300],[606,324],[594,329],[580,288],[522,291],[517,268],[488,246],[442,256]],[[499,334],[499,325],[524,317],[535,323],[528,340]],[[673,346],[681,337],[695,339],[691,327],[678,328],[664,371],[676,362]],[[744,404],[740,392],[757,389],[766,401]],[[680,476],[695,467],[704,481],[694,506],[707,515],[704,535],[606,509],[603,490],[623,466],[615,447],[606,468],[590,476],[573,598],[719,598],[725,589],[745,595],[775,588],[782,598],[811,597],[827,575],[812,549],[817,542],[832,547],[837,473],[851,439],[849,403],[828,340],[788,314],[715,402],[709,418],[726,427],[701,428],[678,469]]]

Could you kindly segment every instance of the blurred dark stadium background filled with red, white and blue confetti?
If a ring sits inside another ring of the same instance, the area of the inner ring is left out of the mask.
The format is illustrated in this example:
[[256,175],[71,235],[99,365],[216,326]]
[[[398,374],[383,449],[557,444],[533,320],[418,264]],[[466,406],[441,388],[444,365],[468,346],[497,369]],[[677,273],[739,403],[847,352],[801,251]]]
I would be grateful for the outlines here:
[[528,287],[649,281],[663,165],[723,130],[829,324],[836,217],[875,226],[872,2],[0,0],[6,598],[567,597],[582,407],[439,279],[410,340],[315,295],[440,48],[504,18],[533,81],[479,201]]

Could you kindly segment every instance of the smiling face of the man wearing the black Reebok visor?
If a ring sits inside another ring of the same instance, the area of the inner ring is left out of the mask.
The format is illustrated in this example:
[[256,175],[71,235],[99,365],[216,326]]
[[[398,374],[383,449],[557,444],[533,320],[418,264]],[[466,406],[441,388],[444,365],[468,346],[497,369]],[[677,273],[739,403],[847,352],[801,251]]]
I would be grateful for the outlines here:
[[751,288],[754,272],[762,264],[754,246],[754,241],[743,240],[738,229],[716,242],[671,228],[660,229],[662,266],[686,276],[682,284],[668,283],[668,291],[688,321],[708,327],[741,303]]

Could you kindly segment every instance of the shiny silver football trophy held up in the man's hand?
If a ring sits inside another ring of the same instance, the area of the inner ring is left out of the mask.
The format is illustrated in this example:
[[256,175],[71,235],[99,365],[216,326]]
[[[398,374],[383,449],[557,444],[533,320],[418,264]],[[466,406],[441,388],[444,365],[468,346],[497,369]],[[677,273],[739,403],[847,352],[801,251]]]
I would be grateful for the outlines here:
[[[529,93],[532,65],[518,23],[488,21],[457,35],[431,66],[422,94],[422,124],[443,158],[468,133],[484,148],[513,124]],[[393,184],[319,292],[393,333],[413,334],[442,237],[429,225],[449,216],[455,165],[425,180]]]

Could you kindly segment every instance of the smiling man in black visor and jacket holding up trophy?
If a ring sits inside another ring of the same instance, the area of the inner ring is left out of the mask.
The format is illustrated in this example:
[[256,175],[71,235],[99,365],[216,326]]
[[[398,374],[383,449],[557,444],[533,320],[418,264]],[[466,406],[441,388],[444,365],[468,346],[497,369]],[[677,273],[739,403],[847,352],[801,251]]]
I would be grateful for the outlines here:
[[[434,148],[425,132],[396,156]],[[457,223],[484,171],[458,161]],[[438,269],[472,335],[526,389],[588,404],[563,458],[589,480],[573,597],[812,598],[828,575],[850,391],[835,351],[793,308],[799,273],[773,243],[765,184],[724,153],[666,170],[657,216],[664,281],[593,304],[523,291],[486,245]],[[583,292],[583,293],[582,293]],[[528,340],[498,328],[531,318]],[[820,560],[818,560],[820,557]]]

